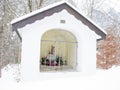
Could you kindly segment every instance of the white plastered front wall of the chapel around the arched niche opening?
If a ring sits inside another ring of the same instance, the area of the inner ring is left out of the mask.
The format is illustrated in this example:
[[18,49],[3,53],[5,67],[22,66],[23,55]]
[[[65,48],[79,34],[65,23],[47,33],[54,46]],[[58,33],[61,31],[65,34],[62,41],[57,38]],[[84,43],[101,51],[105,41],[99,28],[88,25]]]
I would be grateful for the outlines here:
[[[60,23],[60,20],[65,20],[65,24]],[[63,29],[72,32],[78,41],[77,71],[95,71],[95,33],[89,30],[87,26],[77,20],[73,15],[63,10],[20,29],[22,35],[21,66],[24,80],[29,80],[31,78],[36,79],[40,76],[40,40],[43,33],[50,29]]]

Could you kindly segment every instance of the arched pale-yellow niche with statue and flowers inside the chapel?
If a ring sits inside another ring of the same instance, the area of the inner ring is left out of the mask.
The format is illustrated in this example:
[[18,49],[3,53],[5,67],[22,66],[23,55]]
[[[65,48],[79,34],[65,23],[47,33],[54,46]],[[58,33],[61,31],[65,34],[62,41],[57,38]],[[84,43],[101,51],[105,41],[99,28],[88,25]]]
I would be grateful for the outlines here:
[[77,40],[65,30],[49,30],[41,39],[40,72],[74,71],[77,63]]

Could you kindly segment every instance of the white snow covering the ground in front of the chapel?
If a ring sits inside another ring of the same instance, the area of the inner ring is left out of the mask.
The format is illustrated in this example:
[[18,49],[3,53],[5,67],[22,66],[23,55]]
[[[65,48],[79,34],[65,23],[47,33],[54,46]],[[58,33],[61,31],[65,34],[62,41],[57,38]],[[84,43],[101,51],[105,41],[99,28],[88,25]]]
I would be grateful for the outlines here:
[[[97,70],[95,75],[19,82],[20,66],[7,66],[2,72],[0,90],[120,90],[120,67]],[[15,74],[17,73],[17,74]]]

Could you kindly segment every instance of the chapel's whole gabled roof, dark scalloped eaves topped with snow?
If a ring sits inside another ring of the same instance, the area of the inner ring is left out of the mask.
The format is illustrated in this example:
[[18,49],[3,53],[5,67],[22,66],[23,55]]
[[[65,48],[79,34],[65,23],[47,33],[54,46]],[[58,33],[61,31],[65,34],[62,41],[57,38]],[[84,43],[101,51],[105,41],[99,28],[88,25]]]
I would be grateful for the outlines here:
[[[75,15],[76,18],[81,20],[85,25],[87,25],[91,30],[95,31],[96,34],[100,35],[103,39],[106,37],[106,31],[99,27],[96,23],[94,23],[91,19],[83,15],[74,5],[69,3],[68,1],[59,1],[54,4],[43,7],[39,10],[33,11],[29,14],[26,14],[22,17],[14,19],[11,24],[13,26],[13,30],[17,31],[18,28],[24,27],[27,24],[33,23],[36,19],[40,20],[45,16],[50,16],[55,12],[59,12],[63,9],[67,9],[68,12]],[[72,12],[71,12],[72,11]],[[41,15],[41,17],[38,17]],[[78,16],[79,15],[79,16]],[[35,18],[37,17],[37,18]],[[18,36],[19,32],[17,31]]]

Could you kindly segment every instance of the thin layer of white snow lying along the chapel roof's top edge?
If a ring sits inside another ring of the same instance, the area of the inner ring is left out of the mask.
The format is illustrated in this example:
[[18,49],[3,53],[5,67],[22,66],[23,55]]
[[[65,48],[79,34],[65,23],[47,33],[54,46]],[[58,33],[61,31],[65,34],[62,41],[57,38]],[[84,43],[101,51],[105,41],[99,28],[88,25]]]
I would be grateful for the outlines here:
[[25,20],[25,19],[27,19],[27,18],[30,18],[30,17],[32,17],[32,16],[34,16],[34,15],[37,15],[37,14],[42,13],[42,12],[44,12],[44,11],[50,10],[50,9],[52,9],[52,8],[54,8],[54,7],[57,7],[57,6],[59,6],[59,5],[62,5],[62,4],[67,4],[69,7],[71,7],[73,10],[75,10],[77,13],[79,13],[79,15],[81,15],[84,19],[86,19],[89,23],[91,23],[91,24],[94,25],[97,29],[99,29],[102,33],[104,33],[105,35],[107,34],[107,32],[106,32],[105,30],[103,30],[101,27],[99,27],[99,26],[98,26],[96,23],[94,23],[91,19],[89,19],[88,17],[86,17],[85,15],[83,15],[75,6],[73,6],[72,4],[70,4],[68,1],[59,1],[59,2],[56,2],[56,3],[54,3],[54,4],[48,5],[48,6],[46,6],[46,7],[43,7],[43,8],[41,8],[41,9],[39,9],[39,10],[33,11],[33,12],[31,12],[31,13],[29,13],[29,14],[26,14],[26,15],[24,15],[24,16],[22,16],[22,17],[19,17],[19,18],[17,18],[17,19],[14,19],[14,20],[11,22],[11,24],[12,24],[12,25],[13,25],[13,24],[16,24],[16,23],[18,23],[18,22],[20,22],[20,21],[23,21],[23,20]]

